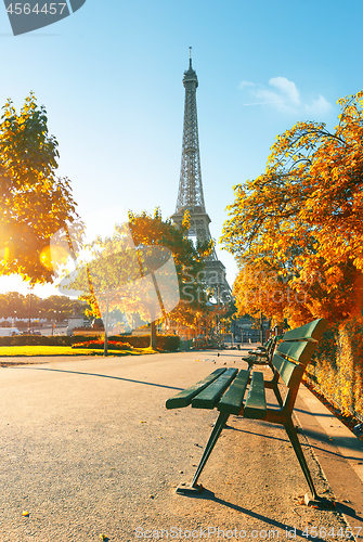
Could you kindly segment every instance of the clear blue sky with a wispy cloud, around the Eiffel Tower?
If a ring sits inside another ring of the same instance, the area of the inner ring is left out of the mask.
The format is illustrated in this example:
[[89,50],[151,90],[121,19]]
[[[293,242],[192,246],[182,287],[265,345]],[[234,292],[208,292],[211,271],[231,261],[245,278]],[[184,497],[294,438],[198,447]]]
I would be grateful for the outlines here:
[[[159,206],[167,217],[192,46],[204,195],[218,240],[232,186],[263,172],[275,137],[298,120],[334,129],[337,100],[362,89],[362,15],[361,0],[87,0],[14,37],[0,5],[0,104],[11,98],[20,109],[33,90],[46,105],[59,175],[70,179],[81,217],[101,212],[111,230],[127,209]],[[219,256],[232,283],[234,260]],[[27,292],[1,279],[0,292],[11,289]]]

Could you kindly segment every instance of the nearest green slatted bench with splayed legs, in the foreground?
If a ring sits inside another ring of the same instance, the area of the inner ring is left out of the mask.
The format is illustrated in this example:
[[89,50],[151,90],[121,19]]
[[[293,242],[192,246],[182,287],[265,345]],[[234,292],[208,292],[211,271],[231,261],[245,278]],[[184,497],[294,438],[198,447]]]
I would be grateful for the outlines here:
[[[203,380],[167,400],[167,409],[180,409],[192,404],[194,409],[216,408],[219,411],[217,423],[204,450],[192,485],[179,486],[177,492],[187,493],[202,490],[202,486],[197,485],[197,480],[229,416],[234,414],[284,426],[312,493],[313,502],[326,501],[317,496],[291,421],[293,409],[303,372],[326,326],[327,321],[321,319],[285,333],[283,343],[277,346],[271,360],[273,367],[271,380],[264,382],[261,372],[255,371],[250,373],[246,370],[238,372],[237,369],[222,367],[217,369]],[[277,386],[280,379],[283,382],[286,391],[284,400]],[[267,406],[265,389],[273,390],[278,403],[276,408]],[[256,453],[258,453],[258,450],[256,450]],[[308,495],[306,502],[311,502]]]

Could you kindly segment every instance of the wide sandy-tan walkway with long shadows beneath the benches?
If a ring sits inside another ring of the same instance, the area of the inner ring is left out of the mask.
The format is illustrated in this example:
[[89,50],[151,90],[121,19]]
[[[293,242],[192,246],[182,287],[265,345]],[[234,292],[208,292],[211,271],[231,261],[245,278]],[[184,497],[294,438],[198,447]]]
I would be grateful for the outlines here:
[[174,493],[192,479],[217,415],[167,411],[165,401],[224,363],[245,367],[242,354],[41,358],[0,369],[0,542],[341,541],[349,527],[359,540],[363,443],[306,389],[297,416],[311,446],[301,441],[317,491],[337,509],[302,504],[307,483],[282,428],[238,416],[203,473],[206,491]]

